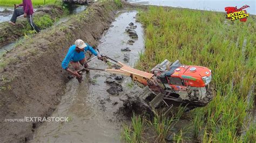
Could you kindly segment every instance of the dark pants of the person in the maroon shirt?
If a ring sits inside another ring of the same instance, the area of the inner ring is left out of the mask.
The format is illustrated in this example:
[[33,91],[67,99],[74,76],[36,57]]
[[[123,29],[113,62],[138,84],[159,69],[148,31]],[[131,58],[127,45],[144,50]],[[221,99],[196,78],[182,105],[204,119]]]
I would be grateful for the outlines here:
[[[14,14],[11,17],[11,22],[16,23],[17,17],[24,15],[23,8],[16,8],[14,9]],[[33,22],[32,15],[27,15],[26,19],[28,20],[30,26],[35,30],[36,32],[40,32],[40,29],[36,26],[36,24]]]

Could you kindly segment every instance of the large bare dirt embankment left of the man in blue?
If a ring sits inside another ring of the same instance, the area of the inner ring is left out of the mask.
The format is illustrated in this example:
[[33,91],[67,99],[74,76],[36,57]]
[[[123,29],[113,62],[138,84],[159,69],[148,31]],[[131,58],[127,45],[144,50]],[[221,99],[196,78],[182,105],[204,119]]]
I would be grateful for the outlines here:
[[95,3],[65,24],[40,32],[6,54],[0,65],[0,137],[3,142],[25,142],[41,123],[5,119],[48,117],[65,89],[61,62],[70,45],[83,39],[92,46],[109,28],[118,7]]

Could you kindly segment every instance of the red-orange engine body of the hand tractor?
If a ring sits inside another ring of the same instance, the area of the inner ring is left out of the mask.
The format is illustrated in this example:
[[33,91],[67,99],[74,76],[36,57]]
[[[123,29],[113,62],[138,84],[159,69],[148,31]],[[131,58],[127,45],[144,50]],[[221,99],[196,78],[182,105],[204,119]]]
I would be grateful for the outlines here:
[[207,93],[212,74],[206,67],[185,66],[179,60],[174,63],[164,60],[151,73],[163,84],[165,95],[199,106],[205,106],[212,99]]

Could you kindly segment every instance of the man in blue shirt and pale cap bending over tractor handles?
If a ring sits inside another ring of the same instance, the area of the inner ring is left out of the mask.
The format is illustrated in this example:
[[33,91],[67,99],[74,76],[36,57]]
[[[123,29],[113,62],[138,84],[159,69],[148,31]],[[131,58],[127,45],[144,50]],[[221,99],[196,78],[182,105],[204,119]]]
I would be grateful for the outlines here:
[[[100,55],[98,55],[97,52],[89,44],[85,44],[83,40],[78,39],[75,41],[75,45],[72,45],[69,48],[68,54],[66,54],[65,59],[62,61],[62,68],[68,71],[70,74],[75,75],[79,83],[82,82],[82,75],[78,73],[80,66],[79,63],[84,65],[86,62],[85,53],[87,50],[89,50],[92,54],[100,57]],[[75,71],[72,71],[69,68],[69,62],[73,68],[75,68]],[[86,63],[84,68],[87,67],[88,65]]]

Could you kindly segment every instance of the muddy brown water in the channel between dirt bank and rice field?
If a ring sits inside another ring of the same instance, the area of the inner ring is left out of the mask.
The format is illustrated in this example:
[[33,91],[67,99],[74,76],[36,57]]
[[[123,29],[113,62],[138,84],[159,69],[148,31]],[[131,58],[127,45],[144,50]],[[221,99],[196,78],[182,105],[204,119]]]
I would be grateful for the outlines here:
[[[136,11],[119,12],[116,21],[100,39],[100,52],[118,61],[123,61],[125,52],[122,48],[129,47],[130,61],[127,65],[134,65],[138,60],[139,52],[143,51],[144,39],[142,25],[135,22]],[[127,45],[130,39],[125,32],[130,22],[138,27],[135,29],[138,40]],[[67,45],[67,50],[68,50]],[[90,67],[107,68],[107,65],[97,59],[89,63]],[[127,83],[131,80],[125,77],[122,81],[123,92],[119,95],[110,95],[106,91],[110,85],[105,83],[109,73],[90,71],[83,75],[83,82],[79,84],[74,78],[66,84],[66,94],[62,96],[52,117],[69,117],[69,122],[45,122],[37,128],[31,142],[120,142],[122,121],[117,119],[116,112],[122,102],[121,95],[129,91]]]

